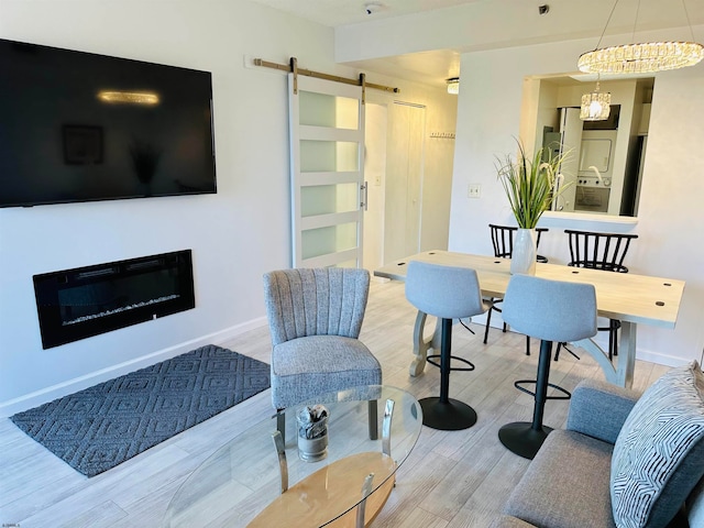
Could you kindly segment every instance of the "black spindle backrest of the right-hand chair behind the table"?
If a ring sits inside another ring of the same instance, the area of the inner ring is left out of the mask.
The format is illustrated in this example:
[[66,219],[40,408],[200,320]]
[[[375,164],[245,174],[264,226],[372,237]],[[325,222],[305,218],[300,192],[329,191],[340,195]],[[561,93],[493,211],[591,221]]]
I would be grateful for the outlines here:
[[624,258],[630,241],[637,234],[596,233],[565,229],[570,240],[570,258],[568,266],[591,267],[607,272],[628,273]]

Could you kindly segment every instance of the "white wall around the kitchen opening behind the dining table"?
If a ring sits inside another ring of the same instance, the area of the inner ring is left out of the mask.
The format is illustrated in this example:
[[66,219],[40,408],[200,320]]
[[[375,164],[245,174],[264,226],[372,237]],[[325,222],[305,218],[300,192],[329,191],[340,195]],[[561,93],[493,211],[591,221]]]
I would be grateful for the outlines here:
[[[462,56],[458,139],[452,183],[450,249],[491,253],[490,222],[512,222],[496,180],[495,157],[514,154],[520,130],[520,103],[527,75],[571,72],[591,41],[561,42]],[[593,46],[593,43],[591,44]],[[549,61],[547,59],[549,57]],[[639,239],[627,257],[632,273],[686,280],[674,330],[638,328],[638,358],[663,364],[700,359],[704,343],[704,246],[700,243],[704,210],[704,158],[700,155],[704,116],[704,64],[658,74],[637,224],[603,224],[565,217],[546,218],[550,228],[540,253],[566,262],[564,228],[632,231]],[[469,183],[482,184],[482,198],[466,198]]]

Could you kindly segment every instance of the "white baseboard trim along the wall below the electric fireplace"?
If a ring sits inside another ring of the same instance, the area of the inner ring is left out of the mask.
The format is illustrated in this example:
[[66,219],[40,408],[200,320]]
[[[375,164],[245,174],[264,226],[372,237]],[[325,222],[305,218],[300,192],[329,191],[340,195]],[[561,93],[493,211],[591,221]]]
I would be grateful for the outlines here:
[[251,321],[235,324],[218,332],[201,336],[189,341],[184,341],[176,345],[162,349],[157,352],[135,358],[133,360],[112,365],[108,369],[101,369],[100,371],[91,372],[89,374],[85,374],[82,376],[78,376],[63,383],[57,383],[55,385],[52,385],[51,387],[46,387],[41,391],[35,391],[33,393],[29,393],[13,399],[2,402],[0,403],[0,418],[10,417],[15,413],[31,409],[47,402],[52,402],[56,398],[61,398],[62,396],[66,396],[77,391],[82,391],[84,388],[91,387],[98,383],[107,382],[108,380],[112,380],[113,377],[122,376],[130,372],[144,369],[145,366],[153,365],[154,363],[158,363],[160,361],[175,358],[176,355],[184,354],[199,346],[226,342],[230,339],[237,338],[242,333],[249,332],[250,330],[255,330],[265,324],[266,317],[252,319]]

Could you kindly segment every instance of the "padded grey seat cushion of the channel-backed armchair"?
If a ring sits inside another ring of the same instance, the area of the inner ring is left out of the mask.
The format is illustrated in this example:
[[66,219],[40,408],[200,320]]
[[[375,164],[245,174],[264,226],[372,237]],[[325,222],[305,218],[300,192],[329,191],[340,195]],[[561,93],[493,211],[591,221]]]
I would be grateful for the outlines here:
[[[310,372],[310,365],[316,365],[316,372]],[[279,343],[272,351],[272,404],[277,409],[321,392],[381,383],[378,361],[356,339],[309,336]]]

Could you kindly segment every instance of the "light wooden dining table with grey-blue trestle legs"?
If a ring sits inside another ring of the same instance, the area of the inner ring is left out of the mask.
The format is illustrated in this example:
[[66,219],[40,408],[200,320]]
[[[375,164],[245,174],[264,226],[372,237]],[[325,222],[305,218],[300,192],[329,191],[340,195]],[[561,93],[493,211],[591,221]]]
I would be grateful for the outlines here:
[[[486,255],[473,255],[449,251],[426,251],[400,258],[374,271],[377,277],[405,280],[410,261],[431,262],[446,266],[470,267],[476,271],[482,295],[503,298],[510,279],[510,260]],[[600,317],[620,321],[618,355],[609,360],[593,339],[573,344],[592,355],[604,371],[606,380],[623,387],[630,387],[636,365],[636,331],[638,324],[673,329],[680,310],[684,280],[614,273],[560,264],[536,264],[536,276],[553,280],[587,283],[596,289],[596,308]],[[440,348],[440,331],[426,339],[424,329],[427,315],[419,311],[414,328],[414,360],[410,375],[417,376],[426,366],[428,350]]]

